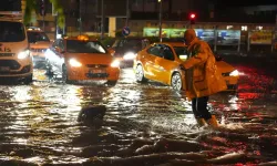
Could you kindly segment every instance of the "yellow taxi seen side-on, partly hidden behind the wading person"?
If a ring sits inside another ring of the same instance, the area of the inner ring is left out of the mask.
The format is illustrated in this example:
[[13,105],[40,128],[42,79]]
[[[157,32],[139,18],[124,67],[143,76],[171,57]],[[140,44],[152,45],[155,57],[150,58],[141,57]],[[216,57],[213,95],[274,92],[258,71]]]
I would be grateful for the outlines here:
[[[140,51],[134,59],[134,72],[137,82],[147,80],[171,85],[181,91],[184,87],[184,73],[179,65],[186,61],[187,46],[183,42],[154,43]],[[216,58],[216,64],[226,80],[229,91],[237,90],[238,71],[230,64]]]

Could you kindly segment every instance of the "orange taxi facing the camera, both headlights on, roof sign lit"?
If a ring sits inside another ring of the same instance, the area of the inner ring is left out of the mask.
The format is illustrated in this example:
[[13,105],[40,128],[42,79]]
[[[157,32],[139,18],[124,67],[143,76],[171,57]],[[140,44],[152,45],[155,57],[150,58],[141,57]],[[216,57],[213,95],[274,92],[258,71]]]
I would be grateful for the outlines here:
[[96,39],[78,35],[58,39],[45,52],[47,73],[73,81],[106,81],[114,85],[120,76],[120,61]]

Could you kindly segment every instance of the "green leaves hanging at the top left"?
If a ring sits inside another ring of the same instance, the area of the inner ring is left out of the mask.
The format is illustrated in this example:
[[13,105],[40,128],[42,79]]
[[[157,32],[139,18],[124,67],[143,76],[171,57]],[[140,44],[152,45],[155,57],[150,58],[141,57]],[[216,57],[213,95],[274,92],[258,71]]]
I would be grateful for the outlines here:
[[[38,0],[21,0],[25,1],[25,9],[22,9],[24,12],[24,24],[29,24],[31,22],[31,15],[32,12],[35,11],[35,13],[39,12],[39,3]],[[60,0],[49,0],[50,3],[52,3],[52,7],[54,8],[54,10],[57,11],[58,14],[58,25],[60,28],[63,28],[64,25],[64,13],[63,13],[63,8],[61,6],[61,1]]]

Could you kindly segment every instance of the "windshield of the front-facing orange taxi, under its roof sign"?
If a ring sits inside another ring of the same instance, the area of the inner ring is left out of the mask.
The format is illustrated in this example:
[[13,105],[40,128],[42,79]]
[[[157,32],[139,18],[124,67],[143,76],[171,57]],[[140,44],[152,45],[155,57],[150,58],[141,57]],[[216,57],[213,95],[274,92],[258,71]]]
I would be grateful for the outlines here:
[[98,41],[68,40],[69,53],[107,53],[106,49]]

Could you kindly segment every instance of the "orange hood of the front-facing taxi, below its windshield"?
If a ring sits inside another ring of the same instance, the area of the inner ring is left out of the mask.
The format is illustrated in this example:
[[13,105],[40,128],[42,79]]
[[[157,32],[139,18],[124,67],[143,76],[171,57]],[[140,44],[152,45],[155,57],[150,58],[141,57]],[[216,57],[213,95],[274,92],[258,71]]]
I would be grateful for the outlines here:
[[102,53],[66,53],[65,58],[68,60],[75,59],[82,64],[111,64],[113,56],[110,54]]

